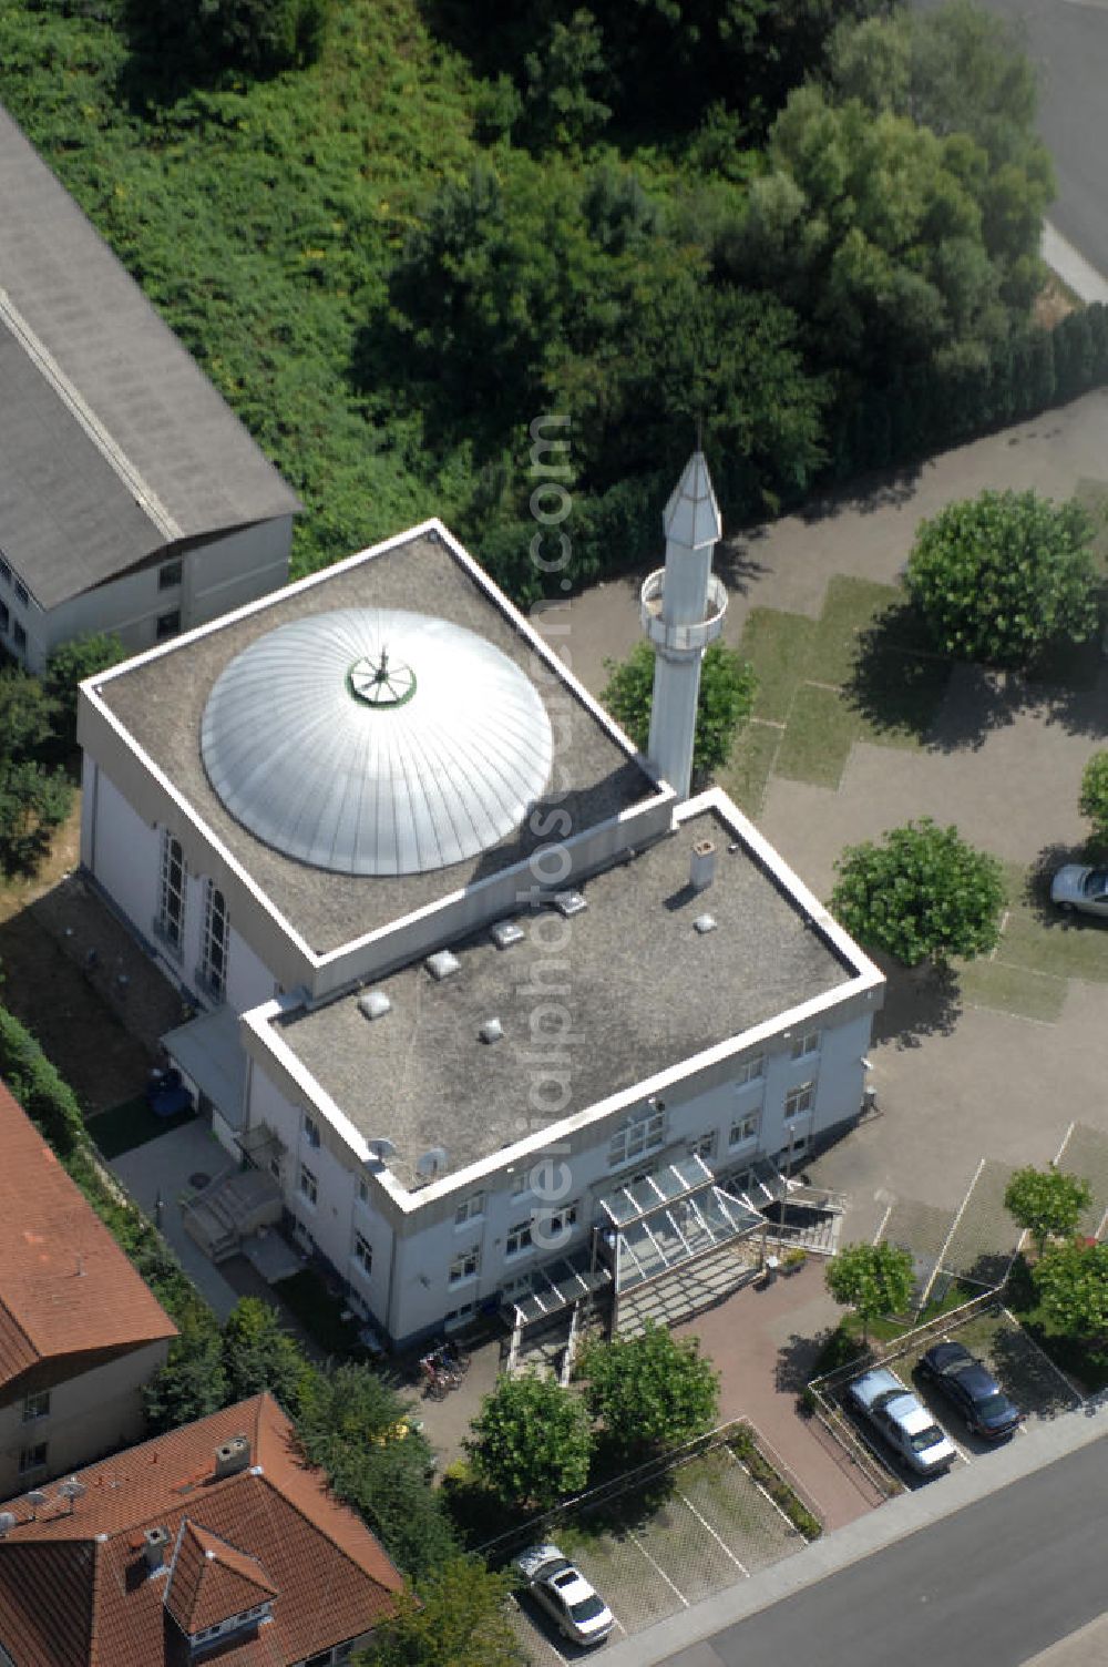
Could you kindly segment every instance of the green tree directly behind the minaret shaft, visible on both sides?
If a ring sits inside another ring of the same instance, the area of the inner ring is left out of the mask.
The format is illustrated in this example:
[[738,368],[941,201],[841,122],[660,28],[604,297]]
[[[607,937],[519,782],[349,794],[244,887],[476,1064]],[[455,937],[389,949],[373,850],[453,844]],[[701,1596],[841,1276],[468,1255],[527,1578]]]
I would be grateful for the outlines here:
[[[638,642],[626,660],[605,660],[605,670],[608,682],[600,698],[640,752],[645,752],[653,708],[653,648]],[[753,667],[746,660],[721,642],[710,645],[700,667],[693,743],[693,775],[700,780],[715,775],[730,758],[735,737],[753,708],[756,687]]]

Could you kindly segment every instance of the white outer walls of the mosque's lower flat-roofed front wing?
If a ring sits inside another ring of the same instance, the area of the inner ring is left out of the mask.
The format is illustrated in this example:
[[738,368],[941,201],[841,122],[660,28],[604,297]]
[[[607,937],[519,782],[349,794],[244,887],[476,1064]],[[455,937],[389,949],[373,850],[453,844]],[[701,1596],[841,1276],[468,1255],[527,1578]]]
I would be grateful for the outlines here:
[[[853,1005],[853,1004],[851,1004]],[[755,1159],[785,1160],[790,1152],[801,1160],[808,1144],[821,1132],[856,1115],[865,1080],[865,1050],[870,1042],[871,1010],[853,1012],[835,1022],[831,1009],[826,1024],[815,1017],[805,1024],[781,1027],[780,1032],[751,1045],[741,1055],[713,1065],[663,1090],[665,1135],[660,1147],[618,1165],[610,1164],[610,1142],[626,1110],[613,1112],[600,1122],[576,1129],[548,1154],[513,1155],[483,1175],[462,1177],[448,1192],[420,1204],[417,1194],[410,1210],[402,1210],[370,1175],[370,1202],[358,1202],[358,1179],[365,1174],[357,1154],[327,1120],[320,1105],[308,1097],[295,1104],[277,1087],[252,1050],[248,1122],[265,1122],[287,1145],[282,1184],[290,1212],[302,1224],[318,1250],[362,1297],[373,1319],[397,1342],[442,1327],[457,1310],[473,1312],[493,1300],[533,1267],[586,1244],[590,1230],[606,1219],[600,1199],[631,1175],[683,1157],[705,1137],[711,1139],[708,1167],[720,1179],[740,1174]],[[801,1039],[816,1045],[793,1059]],[[748,1060],[763,1060],[760,1075],[740,1084],[736,1077]],[[811,1110],[790,1125],[785,1104],[790,1090],[813,1084]],[[643,1109],[645,1099],[635,1109]],[[320,1130],[320,1147],[310,1149],[303,1139],[305,1110]],[[755,1117],[751,1139],[731,1142],[731,1132],[743,1119]],[[388,1134],[383,1120],[382,1135]],[[317,1202],[308,1204],[300,1189],[300,1167],[307,1164],[317,1184]],[[538,1195],[532,1187],[538,1189]],[[480,1214],[468,1214],[468,1202],[482,1194]],[[510,1230],[533,1219],[542,1220],[558,1207],[576,1204],[576,1224],[556,1245],[532,1244],[512,1252]],[[465,1220],[458,1224],[458,1207]],[[373,1249],[373,1274],[365,1279],[352,1260],[353,1234],[360,1230]],[[300,1240],[310,1249],[307,1239]],[[465,1252],[477,1250],[473,1275],[452,1284],[450,1269]]]

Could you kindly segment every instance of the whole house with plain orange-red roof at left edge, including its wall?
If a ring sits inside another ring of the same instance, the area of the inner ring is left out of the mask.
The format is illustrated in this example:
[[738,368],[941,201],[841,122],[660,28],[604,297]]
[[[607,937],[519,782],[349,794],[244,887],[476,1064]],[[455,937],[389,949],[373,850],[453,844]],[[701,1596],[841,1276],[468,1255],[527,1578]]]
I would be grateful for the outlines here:
[[0,1084],[0,1499],[145,1434],[177,1327]]

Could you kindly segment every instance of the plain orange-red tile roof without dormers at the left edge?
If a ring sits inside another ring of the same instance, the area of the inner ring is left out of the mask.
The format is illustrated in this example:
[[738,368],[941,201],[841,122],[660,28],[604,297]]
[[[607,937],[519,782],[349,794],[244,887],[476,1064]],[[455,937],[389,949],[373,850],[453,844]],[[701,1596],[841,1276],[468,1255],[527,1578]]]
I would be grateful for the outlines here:
[[175,1337],[162,1304],[2,1082],[0,1152],[5,1399],[42,1362],[120,1354]]

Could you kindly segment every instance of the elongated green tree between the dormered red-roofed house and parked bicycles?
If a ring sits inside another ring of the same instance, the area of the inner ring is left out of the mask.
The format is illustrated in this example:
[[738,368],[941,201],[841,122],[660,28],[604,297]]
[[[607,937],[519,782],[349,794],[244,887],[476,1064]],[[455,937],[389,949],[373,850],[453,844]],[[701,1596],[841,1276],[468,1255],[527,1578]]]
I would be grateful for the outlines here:
[[412,1407],[368,1365],[317,1372],[302,1392],[297,1435],[335,1494],[378,1535],[415,1580],[458,1550],[438,1492],[428,1487],[435,1454],[413,1429]]

